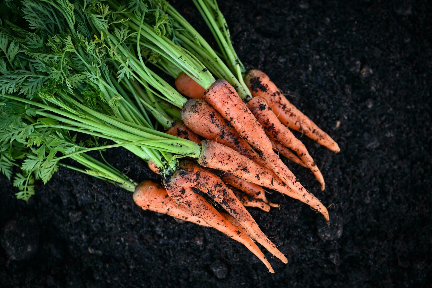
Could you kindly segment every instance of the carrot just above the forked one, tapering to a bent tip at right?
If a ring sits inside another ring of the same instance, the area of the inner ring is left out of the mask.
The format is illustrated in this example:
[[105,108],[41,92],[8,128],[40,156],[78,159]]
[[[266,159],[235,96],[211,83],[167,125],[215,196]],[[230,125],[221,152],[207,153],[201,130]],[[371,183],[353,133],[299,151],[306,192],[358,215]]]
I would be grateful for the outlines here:
[[290,189],[270,169],[257,165],[248,157],[240,155],[240,153],[215,141],[204,140],[201,142],[201,146],[202,152],[197,160],[201,166],[229,172],[251,183],[274,189],[308,204],[323,214],[327,221],[329,220],[327,208],[306,189],[303,188],[301,192]]

